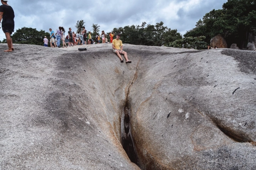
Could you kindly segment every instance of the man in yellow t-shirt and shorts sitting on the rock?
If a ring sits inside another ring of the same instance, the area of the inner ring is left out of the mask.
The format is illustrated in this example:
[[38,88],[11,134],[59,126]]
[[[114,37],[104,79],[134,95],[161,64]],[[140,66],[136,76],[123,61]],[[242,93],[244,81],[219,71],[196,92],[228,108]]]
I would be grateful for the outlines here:
[[121,37],[120,34],[117,34],[116,39],[114,39],[112,41],[113,52],[117,54],[117,56],[120,58],[121,62],[123,62],[123,58],[121,57],[121,54],[123,54],[125,56],[126,63],[131,63],[131,61],[128,60],[127,53],[125,51],[123,51],[123,43],[119,39],[120,37]]

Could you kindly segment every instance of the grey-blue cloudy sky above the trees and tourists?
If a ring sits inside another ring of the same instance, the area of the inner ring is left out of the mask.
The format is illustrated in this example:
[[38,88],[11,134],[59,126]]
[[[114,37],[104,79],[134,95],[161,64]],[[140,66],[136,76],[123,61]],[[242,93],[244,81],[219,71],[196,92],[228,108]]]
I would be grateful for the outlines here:
[[[15,13],[15,30],[22,27],[54,31],[59,26],[76,31],[77,20],[85,21],[87,31],[93,24],[100,31],[115,27],[156,24],[177,29],[179,33],[195,27],[207,12],[221,9],[227,0],[8,0]],[[0,40],[5,38],[0,32]]]

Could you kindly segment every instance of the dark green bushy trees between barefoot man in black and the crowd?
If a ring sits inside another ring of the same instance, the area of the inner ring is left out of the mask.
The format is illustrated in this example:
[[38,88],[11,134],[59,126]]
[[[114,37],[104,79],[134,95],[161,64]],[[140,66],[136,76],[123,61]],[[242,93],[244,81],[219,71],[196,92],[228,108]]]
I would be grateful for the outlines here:
[[50,37],[50,33],[43,30],[37,31],[33,28],[23,27],[16,30],[16,32],[11,35],[12,42],[14,44],[33,44],[33,45],[44,45],[44,36]]

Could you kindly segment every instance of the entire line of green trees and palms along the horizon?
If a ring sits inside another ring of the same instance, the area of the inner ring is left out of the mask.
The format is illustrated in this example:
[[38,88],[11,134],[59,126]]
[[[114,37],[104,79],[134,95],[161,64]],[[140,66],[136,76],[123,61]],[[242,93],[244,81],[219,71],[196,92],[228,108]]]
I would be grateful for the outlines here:
[[[82,31],[84,23],[77,20],[76,32]],[[194,49],[206,49],[210,39],[221,34],[228,46],[235,43],[239,48],[245,48],[251,35],[256,35],[256,0],[228,0],[222,9],[206,13],[202,20],[196,22],[196,27],[183,36],[177,29],[164,26],[162,21],[155,25],[146,24],[113,28],[112,32],[122,34],[121,39],[126,44]],[[95,39],[96,35],[100,35],[100,26],[93,24],[91,27],[91,35]],[[108,39],[109,33],[106,33]],[[49,34],[44,30],[23,27],[11,37],[13,43],[43,45],[44,36],[48,38]],[[6,43],[6,39],[0,43]]]

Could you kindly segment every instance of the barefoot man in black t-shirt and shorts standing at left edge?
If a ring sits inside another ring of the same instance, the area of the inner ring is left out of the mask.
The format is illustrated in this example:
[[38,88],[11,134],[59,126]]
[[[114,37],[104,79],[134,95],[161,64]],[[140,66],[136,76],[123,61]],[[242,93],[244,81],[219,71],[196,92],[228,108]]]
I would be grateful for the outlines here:
[[[2,29],[6,34],[6,41],[8,44],[8,50],[4,52],[12,52],[14,50],[12,45],[11,34],[14,32],[14,11],[10,5],[7,4],[7,0],[1,0],[3,5],[0,6],[0,22],[2,20]],[[1,28],[1,27],[0,27]]]

